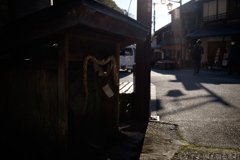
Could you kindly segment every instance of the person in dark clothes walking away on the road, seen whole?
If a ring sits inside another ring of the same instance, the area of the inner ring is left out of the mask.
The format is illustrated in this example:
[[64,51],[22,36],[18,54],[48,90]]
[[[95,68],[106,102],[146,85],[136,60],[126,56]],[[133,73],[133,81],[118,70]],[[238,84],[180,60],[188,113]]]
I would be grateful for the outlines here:
[[204,49],[201,46],[202,41],[200,39],[197,40],[197,45],[194,45],[193,47],[193,63],[194,63],[194,75],[199,74],[199,70],[201,67],[201,60],[202,60],[202,54],[204,53]]

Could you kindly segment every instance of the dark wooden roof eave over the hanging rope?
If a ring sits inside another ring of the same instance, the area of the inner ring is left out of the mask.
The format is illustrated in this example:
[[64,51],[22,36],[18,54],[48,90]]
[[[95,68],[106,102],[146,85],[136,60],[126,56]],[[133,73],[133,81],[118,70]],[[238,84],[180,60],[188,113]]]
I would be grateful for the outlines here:
[[127,46],[146,40],[149,28],[96,1],[68,0],[0,28],[0,52],[51,34],[99,39]]

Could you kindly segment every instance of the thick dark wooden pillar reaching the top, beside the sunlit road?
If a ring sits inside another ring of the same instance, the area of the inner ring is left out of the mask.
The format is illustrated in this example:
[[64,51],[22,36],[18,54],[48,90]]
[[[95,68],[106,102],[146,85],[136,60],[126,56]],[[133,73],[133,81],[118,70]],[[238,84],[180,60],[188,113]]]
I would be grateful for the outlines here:
[[149,26],[145,42],[137,43],[136,53],[136,97],[135,118],[147,121],[151,114],[150,106],[150,61],[151,61],[151,22],[152,0],[138,0],[137,20]]

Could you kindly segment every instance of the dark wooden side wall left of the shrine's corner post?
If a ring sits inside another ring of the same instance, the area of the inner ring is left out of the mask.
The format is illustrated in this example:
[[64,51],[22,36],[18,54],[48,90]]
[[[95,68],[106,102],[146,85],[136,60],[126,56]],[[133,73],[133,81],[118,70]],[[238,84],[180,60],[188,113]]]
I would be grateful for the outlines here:
[[57,69],[10,67],[1,73],[5,74],[1,79],[5,149],[13,156],[54,150],[58,141]]

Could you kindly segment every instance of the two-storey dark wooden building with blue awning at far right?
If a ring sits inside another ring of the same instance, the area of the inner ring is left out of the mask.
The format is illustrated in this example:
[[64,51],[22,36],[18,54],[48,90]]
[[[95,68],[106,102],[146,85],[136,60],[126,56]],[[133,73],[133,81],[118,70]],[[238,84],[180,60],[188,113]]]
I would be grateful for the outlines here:
[[239,0],[198,0],[201,8],[202,27],[187,35],[188,38],[200,38],[205,54],[202,61],[208,61],[213,67],[222,65],[225,53],[229,53],[231,37],[240,34]]

